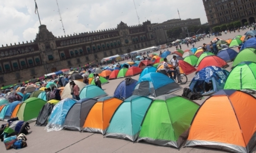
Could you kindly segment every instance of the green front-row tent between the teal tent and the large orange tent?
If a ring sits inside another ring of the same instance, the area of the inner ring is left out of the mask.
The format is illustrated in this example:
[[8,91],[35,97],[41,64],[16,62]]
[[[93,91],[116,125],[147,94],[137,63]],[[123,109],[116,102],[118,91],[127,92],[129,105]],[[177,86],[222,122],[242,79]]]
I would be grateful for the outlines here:
[[177,95],[156,97],[141,124],[137,141],[179,148],[199,105]]

